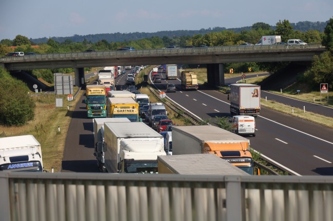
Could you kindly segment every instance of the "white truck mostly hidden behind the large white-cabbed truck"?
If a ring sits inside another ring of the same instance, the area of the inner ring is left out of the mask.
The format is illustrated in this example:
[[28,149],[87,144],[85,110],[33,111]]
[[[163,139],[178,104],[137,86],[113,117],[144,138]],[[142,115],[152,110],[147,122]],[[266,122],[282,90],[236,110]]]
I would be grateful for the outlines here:
[[104,166],[104,151],[103,151],[103,143],[104,143],[104,123],[106,122],[131,122],[126,117],[119,118],[94,118],[94,144],[95,144],[95,152],[94,155],[97,159],[97,167],[101,172],[105,172]]

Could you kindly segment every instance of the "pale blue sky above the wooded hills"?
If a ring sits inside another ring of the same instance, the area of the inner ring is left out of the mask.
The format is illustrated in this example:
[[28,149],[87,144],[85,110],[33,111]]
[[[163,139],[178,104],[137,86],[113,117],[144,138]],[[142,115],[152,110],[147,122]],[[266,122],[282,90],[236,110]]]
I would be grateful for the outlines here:
[[0,40],[326,22],[332,0],[0,0]]

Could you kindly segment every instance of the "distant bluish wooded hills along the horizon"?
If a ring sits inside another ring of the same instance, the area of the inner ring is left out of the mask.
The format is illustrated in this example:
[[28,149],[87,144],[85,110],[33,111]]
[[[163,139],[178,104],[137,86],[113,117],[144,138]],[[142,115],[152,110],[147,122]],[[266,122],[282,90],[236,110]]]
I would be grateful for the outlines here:
[[[299,30],[302,32],[306,32],[308,30],[318,30],[320,32],[324,32],[324,28],[326,27],[328,21],[326,22],[298,22],[298,23],[290,23],[291,26],[293,26],[294,30]],[[214,27],[214,28],[208,28],[204,29],[201,28],[200,30],[176,30],[176,31],[158,31],[158,32],[133,32],[133,33],[103,33],[103,34],[88,34],[88,35],[74,35],[74,36],[68,36],[68,37],[51,37],[54,41],[62,43],[66,41],[66,39],[69,39],[72,42],[83,42],[84,40],[96,43],[101,40],[106,40],[107,42],[124,42],[124,41],[135,41],[142,38],[149,38],[153,36],[157,37],[170,37],[173,38],[175,36],[193,36],[195,34],[206,34],[210,32],[219,32],[219,31],[234,31],[235,33],[240,33],[244,30],[251,30],[251,26],[246,26],[242,28],[221,28],[221,27]],[[271,26],[271,29],[275,30],[276,26]],[[48,40],[47,37],[43,38],[30,38],[30,41],[32,41],[35,44],[39,43],[46,43]]]

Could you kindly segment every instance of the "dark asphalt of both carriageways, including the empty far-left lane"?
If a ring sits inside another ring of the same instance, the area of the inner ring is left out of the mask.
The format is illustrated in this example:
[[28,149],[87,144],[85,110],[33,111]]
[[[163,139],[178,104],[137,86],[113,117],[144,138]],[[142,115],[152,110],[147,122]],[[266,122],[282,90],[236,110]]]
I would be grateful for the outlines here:
[[[116,78],[116,84],[124,84],[125,76]],[[202,119],[230,116],[225,94],[207,88],[179,91],[179,80],[165,81],[164,77],[165,73],[156,86],[165,91],[168,82],[176,84],[177,92],[167,96],[192,114]],[[86,118],[84,96],[80,100],[69,126],[62,171],[99,172],[93,155],[93,119]],[[256,118],[256,128],[256,136],[248,136],[251,147],[269,161],[294,175],[333,175],[332,129],[264,107]]]

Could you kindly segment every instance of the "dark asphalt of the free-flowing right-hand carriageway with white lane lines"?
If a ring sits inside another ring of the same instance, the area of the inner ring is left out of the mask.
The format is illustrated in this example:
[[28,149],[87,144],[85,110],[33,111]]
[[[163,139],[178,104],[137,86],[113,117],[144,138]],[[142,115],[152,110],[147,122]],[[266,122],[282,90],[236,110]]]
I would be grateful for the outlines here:
[[[179,80],[155,85],[165,92],[167,83],[178,84],[177,89],[180,89]],[[201,88],[167,96],[202,119],[230,116],[227,95],[215,90]],[[333,175],[332,129],[267,108],[262,108],[256,118],[256,128],[256,137],[248,137],[251,147],[274,164],[295,175]]]

